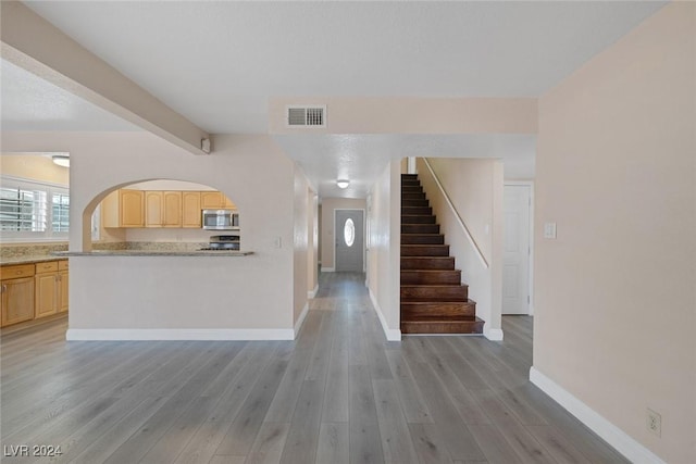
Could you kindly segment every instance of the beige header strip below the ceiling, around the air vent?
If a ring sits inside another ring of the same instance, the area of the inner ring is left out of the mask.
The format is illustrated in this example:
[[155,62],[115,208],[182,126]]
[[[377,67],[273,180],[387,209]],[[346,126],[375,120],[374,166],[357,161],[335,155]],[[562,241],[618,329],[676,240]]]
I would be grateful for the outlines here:
[[326,128],[312,134],[536,134],[533,98],[275,98],[269,102],[271,134],[303,134],[287,127],[287,105],[326,105]]

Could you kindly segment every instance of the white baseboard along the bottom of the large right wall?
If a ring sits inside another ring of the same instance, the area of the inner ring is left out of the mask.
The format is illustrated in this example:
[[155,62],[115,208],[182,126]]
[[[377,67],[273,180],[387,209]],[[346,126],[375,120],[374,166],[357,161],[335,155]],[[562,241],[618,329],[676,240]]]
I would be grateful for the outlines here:
[[577,417],[580,422],[589,427],[591,430],[601,437],[606,442],[616,448],[617,451],[623,454],[629,461],[641,464],[666,464],[664,461],[650,450],[611,424],[563,387],[538,372],[534,366],[530,368],[530,380],[557,403],[566,407],[568,412]]

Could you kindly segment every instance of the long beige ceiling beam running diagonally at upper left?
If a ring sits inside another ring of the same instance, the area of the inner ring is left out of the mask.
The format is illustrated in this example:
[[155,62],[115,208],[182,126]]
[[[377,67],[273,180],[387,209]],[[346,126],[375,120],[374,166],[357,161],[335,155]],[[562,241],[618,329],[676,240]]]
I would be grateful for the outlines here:
[[194,154],[210,135],[18,1],[0,2],[2,58]]

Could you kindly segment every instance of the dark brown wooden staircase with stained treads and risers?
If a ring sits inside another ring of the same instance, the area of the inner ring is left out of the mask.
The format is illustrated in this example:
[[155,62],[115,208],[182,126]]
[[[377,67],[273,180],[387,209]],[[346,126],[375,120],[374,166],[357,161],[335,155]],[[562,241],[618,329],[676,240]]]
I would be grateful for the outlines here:
[[401,333],[482,334],[476,303],[415,174],[401,174]]

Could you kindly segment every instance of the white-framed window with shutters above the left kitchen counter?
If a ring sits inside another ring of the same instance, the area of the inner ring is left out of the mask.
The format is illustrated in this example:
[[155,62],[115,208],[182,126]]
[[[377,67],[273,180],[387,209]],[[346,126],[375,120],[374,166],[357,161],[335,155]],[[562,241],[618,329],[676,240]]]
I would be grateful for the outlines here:
[[67,239],[67,188],[29,179],[0,178],[0,233],[2,241]]

